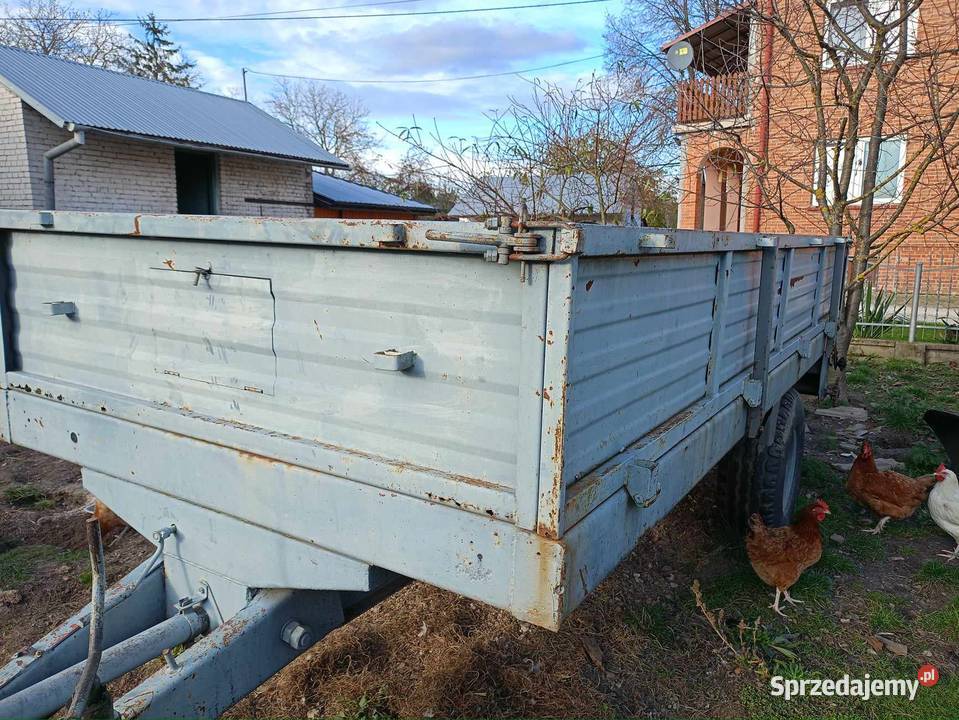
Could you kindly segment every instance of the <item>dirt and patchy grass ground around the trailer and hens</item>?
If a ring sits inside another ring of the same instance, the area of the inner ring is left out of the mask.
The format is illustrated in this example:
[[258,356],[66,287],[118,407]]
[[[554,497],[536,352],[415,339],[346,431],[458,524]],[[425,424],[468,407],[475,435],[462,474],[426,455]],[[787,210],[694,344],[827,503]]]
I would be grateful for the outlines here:
[[[860,361],[855,404],[868,418],[816,414],[807,400],[803,497],[832,514],[825,552],[794,589],[788,619],[730,535],[709,477],[558,633],[414,583],[347,626],[230,711],[232,717],[904,717],[959,716],[959,562],[925,509],[881,536],[845,494],[863,438],[905,471],[942,451],[919,421],[959,409],[959,369]],[[87,496],[74,466],[0,446],[0,652],[9,656],[87,600]],[[112,544],[111,544],[112,542]],[[134,532],[108,540],[111,579],[145,558]],[[10,592],[12,591],[12,592]],[[701,603],[697,604],[696,592]],[[883,641],[885,638],[885,642]],[[915,701],[771,697],[770,677],[940,674]]]

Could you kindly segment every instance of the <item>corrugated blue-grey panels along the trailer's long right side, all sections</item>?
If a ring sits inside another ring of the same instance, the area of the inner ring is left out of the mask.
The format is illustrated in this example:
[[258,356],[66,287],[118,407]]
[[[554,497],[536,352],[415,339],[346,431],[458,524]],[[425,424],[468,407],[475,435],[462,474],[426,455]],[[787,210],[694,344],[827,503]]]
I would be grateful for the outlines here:
[[[834,247],[781,251],[774,360],[784,359],[777,351],[825,322],[834,257]],[[721,258],[722,253],[704,253],[581,259],[569,353],[567,484],[706,397]],[[731,258],[718,326],[719,394],[741,383],[753,366],[761,258],[758,250]]]

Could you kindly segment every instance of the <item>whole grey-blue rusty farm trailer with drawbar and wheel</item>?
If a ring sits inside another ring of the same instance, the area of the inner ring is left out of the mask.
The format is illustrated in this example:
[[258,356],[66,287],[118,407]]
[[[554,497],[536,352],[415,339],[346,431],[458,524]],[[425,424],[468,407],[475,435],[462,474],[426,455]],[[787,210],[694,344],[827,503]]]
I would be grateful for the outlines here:
[[[794,387],[825,383],[846,256],[508,219],[2,211],[0,232],[0,432],[156,545],[107,594],[99,677],[194,640],[123,717],[215,716],[410,578],[556,629],[737,453],[783,446],[730,498],[786,521]],[[0,716],[69,699],[90,614],[0,669]]]

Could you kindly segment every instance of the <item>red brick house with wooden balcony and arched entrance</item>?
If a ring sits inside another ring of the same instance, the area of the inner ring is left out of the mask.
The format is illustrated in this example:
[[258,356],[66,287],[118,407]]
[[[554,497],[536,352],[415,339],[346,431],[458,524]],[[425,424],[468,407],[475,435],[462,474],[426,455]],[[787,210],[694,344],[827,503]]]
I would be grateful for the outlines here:
[[[882,2],[890,8],[899,7],[894,0],[869,0],[869,7],[878,12],[876,8]],[[868,45],[872,36],[861,11],[856,15],[856,0],[835,0],[827,7],[840,18],[849,38]],[[775,12],[783,24],[796,28],[798,47],[790,46],[782,33],[770,29],[767,189],[758,208],[752,193],[756,168],[761,167],[763,24],[748,6],[740,6],[664,46],[666,50],[685,40],[694,54],[689,77],[678,88],[674,130],[682,161],[680,228],[751,231],[758,213],[762,232],[827,232],[815,192],[816,148],[824,138],[828,142],[830,133],[839,132],[837,128],[845,117],[838,107],[846,99],[842,82],[847,78],[855,81],[859,70],[850,63],[840,73],[831,68],[829,60],[822,61],[820,105],[835,107],[827,107],[825,112],[825,133],[818,130],[815,89],[797,53],[808,52],[815,57],[815,53],[824,52],[821,39],[828,42],[830,33],[836,31],[821,12],[817,16],[815,11],[815,3],[809,0],[776,3]],[[938,138],[937,121],[955,112],[959,103],[957,0],[925,0],[909,17],[906,32],[909,58],[892,86],[882,133],[874,227],[888,225],[883,238],[892,241],[889,247],[896,246],[895,252],[903,260],[939,261],[959,247],[959,212],[943,208],[944,198],[959,201],[959,187],[955,185],[959,176],[959,130],[944,133],[948,149],[939,159],[925,163],[917,158],[933,142],[931,138]],[[943,49],[951,52],[940,52]],[[864,124],[874,113],[870,103],[874,106],[875,96],[874,88],[862,96]],[[937,98],[942,105],[934,111]],[[861,156],[868,146],[868,131],[864,128],[857,136],[860,140],[850,197],[861,187]],[[825,200],[828,202],[828,196]],[[959,202],[956,204],[959,206]],[[853,204],[850,213],[855,214],[857,208]]]

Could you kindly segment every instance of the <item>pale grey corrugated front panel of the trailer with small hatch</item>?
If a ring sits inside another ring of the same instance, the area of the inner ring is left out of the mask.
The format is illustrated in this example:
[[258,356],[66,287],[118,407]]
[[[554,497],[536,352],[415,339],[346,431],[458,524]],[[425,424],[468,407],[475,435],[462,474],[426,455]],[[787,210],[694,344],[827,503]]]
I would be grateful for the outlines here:
[[[433,254],[55,233],[13,232],[11,253],[24,374],[512,495],[514,273]],[[50,317],[44,303],[59,300],[77,316]],[[416,365],[375,369],[388,349],[414,350]]]

